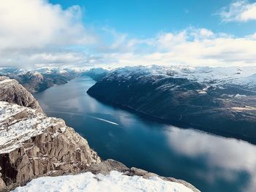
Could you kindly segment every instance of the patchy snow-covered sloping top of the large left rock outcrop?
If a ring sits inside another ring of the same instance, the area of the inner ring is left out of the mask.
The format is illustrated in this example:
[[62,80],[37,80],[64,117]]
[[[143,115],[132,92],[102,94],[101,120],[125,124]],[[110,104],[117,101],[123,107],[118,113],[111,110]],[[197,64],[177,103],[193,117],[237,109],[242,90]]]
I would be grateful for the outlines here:
[[[0,154],[21,147],[26,140],[55,126],[56,120],[29,107],[0,101]],[[65,126],[64,122],[62,124]]]

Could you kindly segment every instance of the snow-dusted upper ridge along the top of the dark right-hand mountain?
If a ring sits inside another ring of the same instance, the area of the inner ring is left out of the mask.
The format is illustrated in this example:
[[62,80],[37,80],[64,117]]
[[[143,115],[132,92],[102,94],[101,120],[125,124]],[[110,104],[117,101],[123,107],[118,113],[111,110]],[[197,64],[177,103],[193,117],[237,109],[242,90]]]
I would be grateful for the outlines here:
[[206,83],[208,85],[222,86],[246,85],[256,86],[256,66],[246,67],[209,67],[209,66],[126,66],[110,71],[117,73],[118,77],[129,79],[132,74],[155,75],[173,78],[187,78],[188,80]]

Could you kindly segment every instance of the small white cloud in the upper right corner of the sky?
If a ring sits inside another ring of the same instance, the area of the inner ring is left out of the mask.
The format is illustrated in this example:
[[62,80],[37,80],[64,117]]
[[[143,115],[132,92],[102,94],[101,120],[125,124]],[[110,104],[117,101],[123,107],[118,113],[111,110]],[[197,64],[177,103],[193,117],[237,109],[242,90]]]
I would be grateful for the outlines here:
[[229,7],[223,7],[217,15],[220,15],[224,22],[246,22],[256,20],[256,2],[235,1]]

